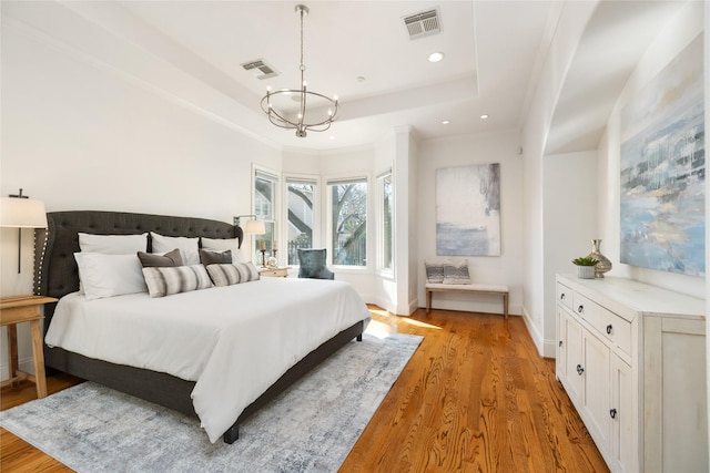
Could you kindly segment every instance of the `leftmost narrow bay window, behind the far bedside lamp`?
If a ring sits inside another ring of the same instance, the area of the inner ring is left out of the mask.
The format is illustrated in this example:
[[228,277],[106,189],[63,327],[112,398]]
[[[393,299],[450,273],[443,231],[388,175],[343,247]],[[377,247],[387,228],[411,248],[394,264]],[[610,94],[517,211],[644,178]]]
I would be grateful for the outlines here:
[[264,220],[266,233],[254,235],[255,258],[254,261],[263,264],[261,249],[265,250],[265,256],[272,254],[272,245],[276,239],[276,193],[278,188],[278,176],[263,169],[254,171],[254,214],[260,220]]

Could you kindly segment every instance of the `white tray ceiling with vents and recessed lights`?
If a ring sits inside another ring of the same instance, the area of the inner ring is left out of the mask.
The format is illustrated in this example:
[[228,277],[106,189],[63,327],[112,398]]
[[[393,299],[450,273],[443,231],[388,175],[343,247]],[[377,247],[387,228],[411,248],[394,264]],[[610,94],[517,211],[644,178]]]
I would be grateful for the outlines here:
[[[221,120],[274,145],[308,150],[373,143],[398,126],[412,126],[422,138],[519,126],[559,14],[554,1],[307,2],[305,78],[311,90],[336,94],[342,109],[329,131],[297,138],[271,125],[260,109],[267,84],[300,84],[296,3],[63,2],[219,91],[232,102],[225,107],[242,110]],[[410,40],[404,17],[435,7],[442,32]],[[445,59],[430,63],[435,51]],[[281,74],[258,80],[241,66],[256,59]]]

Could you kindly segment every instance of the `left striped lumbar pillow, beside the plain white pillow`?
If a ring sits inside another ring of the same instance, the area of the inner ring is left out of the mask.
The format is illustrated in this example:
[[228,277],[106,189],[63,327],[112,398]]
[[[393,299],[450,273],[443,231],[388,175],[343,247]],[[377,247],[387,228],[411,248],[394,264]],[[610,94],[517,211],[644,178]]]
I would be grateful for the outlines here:
[[143,268],[143,277],[151,297],[212,287],[210,276],[202,265]]

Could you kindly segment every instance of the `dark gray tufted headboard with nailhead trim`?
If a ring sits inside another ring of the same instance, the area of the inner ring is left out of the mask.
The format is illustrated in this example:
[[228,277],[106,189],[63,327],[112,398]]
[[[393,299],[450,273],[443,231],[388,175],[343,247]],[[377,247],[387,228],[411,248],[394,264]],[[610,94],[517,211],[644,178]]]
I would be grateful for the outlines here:
[[[74,253],[80,251],[80,232],[98,235],[155,232],[165,236],[239,238],[240,246],[244,237],[241,227],[224,222],[122,212],[51,212],[47,214],[47,229],[34,233],[34,294],[55,298],[79,290]],[[149,251],[150,245],[149,238]]]

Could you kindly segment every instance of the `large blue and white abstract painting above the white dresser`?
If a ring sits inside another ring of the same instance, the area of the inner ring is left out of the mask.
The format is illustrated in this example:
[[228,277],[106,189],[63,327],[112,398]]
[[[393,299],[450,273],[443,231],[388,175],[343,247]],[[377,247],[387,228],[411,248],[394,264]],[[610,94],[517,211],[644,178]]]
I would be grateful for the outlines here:
[[621,111],[620,261],[703,276],[702,34]]

